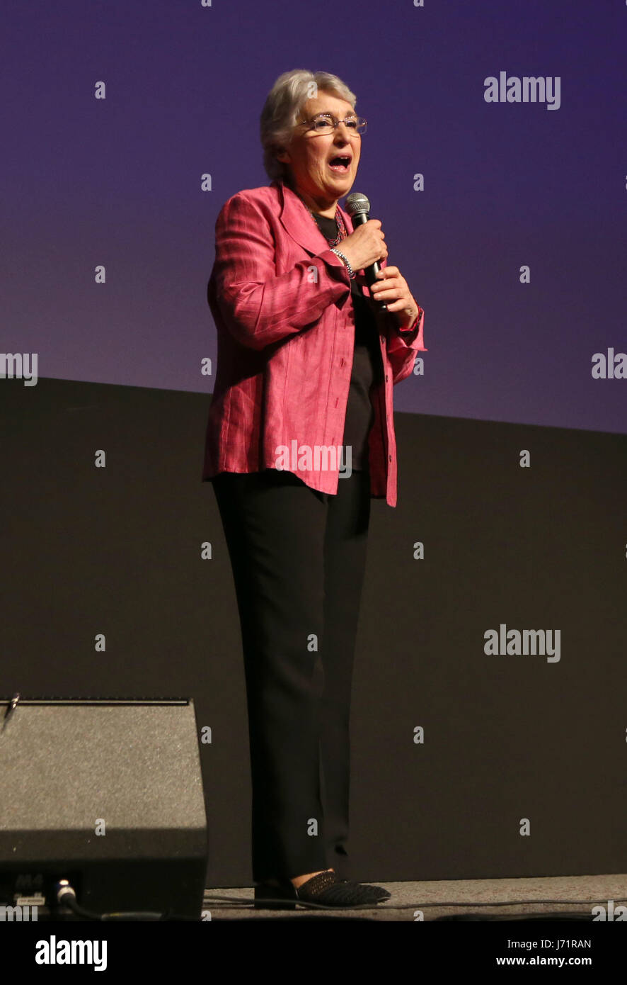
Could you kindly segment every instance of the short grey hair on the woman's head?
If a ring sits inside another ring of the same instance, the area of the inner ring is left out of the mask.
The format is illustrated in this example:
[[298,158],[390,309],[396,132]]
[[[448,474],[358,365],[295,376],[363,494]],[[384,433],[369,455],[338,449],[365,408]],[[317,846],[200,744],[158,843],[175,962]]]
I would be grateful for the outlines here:
[[354,93],[342,79],[329,72],[308,72],[304,68],[283,72],[268,94],[261,113],[261,144],[264,167],[271,181],[288,176],[289,165],[278,161],[276,155],[289,144],[300,110],[307,99],[315,98],[318,89],[345,99],[354,109],[357,101]]

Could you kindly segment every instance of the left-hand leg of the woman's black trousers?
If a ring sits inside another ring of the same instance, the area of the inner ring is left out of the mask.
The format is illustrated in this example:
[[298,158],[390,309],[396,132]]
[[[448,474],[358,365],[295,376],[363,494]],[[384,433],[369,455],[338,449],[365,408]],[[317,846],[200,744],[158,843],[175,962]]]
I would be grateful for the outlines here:
[[[320,683],[328,506],[291,473],[213,483],[242,630],[253,879],[329,868],[320,789]],[[330,497],[331,498],[331,497]]]

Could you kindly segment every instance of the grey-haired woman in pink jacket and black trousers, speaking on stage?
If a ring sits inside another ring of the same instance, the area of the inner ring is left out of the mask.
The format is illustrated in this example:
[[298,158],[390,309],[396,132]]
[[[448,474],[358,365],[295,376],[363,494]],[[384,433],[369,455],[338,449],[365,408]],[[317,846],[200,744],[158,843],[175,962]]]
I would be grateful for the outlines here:
[[349,706],[370,499],[396,506],[392,388],[424,315],[379,220],[353,230],[339,205],[366,127],[355,101],[335,75],[284,73],[261,115],[271,184],[216,223],[203,479],[241,625],[256,906],[390,896],[346,878]]

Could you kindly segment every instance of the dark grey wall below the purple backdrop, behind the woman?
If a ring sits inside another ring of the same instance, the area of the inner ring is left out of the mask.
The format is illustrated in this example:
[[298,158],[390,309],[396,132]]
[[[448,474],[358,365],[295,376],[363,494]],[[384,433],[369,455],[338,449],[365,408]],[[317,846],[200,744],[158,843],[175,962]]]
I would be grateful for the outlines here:
[[[213,733],[200,747],[208,886],[241,886],[245,689],[219,513],[200,481],[209,403],[1,381],[0,697],[192,696]],[[399,506],[372,502],[357,640],[356,875],[625,872],[627,436],[396,422]],[[500,624],[559,629],[560,660],[486,655],[483,633]]]

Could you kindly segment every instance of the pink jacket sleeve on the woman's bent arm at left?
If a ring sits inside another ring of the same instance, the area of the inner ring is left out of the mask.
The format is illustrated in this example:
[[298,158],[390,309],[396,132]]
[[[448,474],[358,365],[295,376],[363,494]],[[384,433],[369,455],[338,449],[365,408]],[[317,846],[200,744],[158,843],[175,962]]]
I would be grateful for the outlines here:
[[259,206],[242,192],[223,205],[209,297],[237,342],[258,350],[280,342],[349,292],[348,271],[331,249],[277,275],[273,230]]

